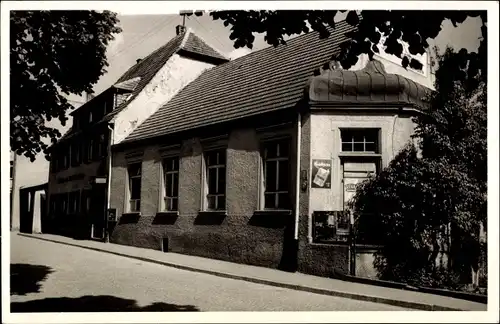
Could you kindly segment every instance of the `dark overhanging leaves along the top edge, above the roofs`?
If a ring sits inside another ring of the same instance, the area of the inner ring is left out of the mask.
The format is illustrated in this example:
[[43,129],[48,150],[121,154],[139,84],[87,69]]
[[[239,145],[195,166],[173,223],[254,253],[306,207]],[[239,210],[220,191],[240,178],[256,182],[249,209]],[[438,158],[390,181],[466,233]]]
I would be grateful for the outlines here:
[[[265,41],[269,45],[286,44],[285,36],[298,35],[317,31],[320,38],[329,37],[335,29],[335,16],[346,14],[346,21],[356,30],[348,33],[350,40],[343,44],[340,54],[332,59],[340,60],[344,68],[356,64],[360,54],[366,53],[372,58],[378,53],[375,46],[382,37],[385,41],[385,52],[402,59],[403,66],[421,69],[422,64],[411,57],[423,54],[429,48],[428,39],[434,39],[441,31],[441,24],[450,20],[454,26],[465,21],[467,17],[480,16],[483,40],[477,56],[474,58],[474,69],[486,71],[486,11],[462,10],[249,10],[249,11],[214,11],[210,15],[214,20],[222,20],[224,26],[231,25],[229,38],[234,47],[253,47],[254,33],[265,33]],[[192,14],[192,13],[191,13]],[[199,12],[195,12],[200,15]],[[405,54],[399,41],[409,45],[409,54]],[[486,76],[486,73],[483,73]]]

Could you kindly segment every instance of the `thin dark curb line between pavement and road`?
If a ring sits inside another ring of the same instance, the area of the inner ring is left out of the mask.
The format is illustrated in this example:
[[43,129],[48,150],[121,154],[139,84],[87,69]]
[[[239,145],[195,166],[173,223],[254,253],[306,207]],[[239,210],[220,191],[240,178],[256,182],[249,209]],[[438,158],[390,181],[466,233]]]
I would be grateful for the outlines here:
[[263,284],[263,285],[274,286],[274,287],[279,287],[279,288],[287,288],[287,289],[305,291],[305,292],[310,292],[310,293],[315,293],[315,294],[320,294],[320,295],[328,295],[328,296],[333,296],[333,297],[341,297],[341,298],[348,298],[348,299],[354,299],[354,300],[360,300],[360,301],[368,301],[368,302],[386,304],[386,305],[391,305],[391,306],[412,308],[412,309],[422,310],[422,311],[463,311],[463,309],[459,309],[459,308],[444,307],[444,306],[439,306],[439,305],[423,304],[423,303],[417,303],[417,302],[408,302],[408,301],[402,301],[402,300],[394,300],[394,299],[389,299],[389,298],[384,298],[384,297],[360,295],[360,294],[347,293],[347,292],[342,292],[342,291],[334,291],[334,290],[328,290],[328,289],[312,288],[312,287],[295,285],[295,284],[275,282],[275,281],[270,281],[270,280],[266,280],[266,279],[258,279],[258,278],[232,275],[232,274],[223,273],[223,272],[203,270],[203,269],[198,269],[198,268],[194,268],[194,267],[183,266],[180,264],[169,263],[169,262],[154,260],[154,259],[150,259],[150,258],[143,258],[143,257],[139,257],[139,256],[128,255],[125,253],[109,251],[109,250],[100,249],[100,248],[96,248],[96,247],[82,246],[82,245],[78,245],[78,244],[61,242],[61,241],[43,238],[43,237],[36,237],[36,236],[29,235],[29,234],[17,233],[17,235],[32,238],[32,239],[52,242],[52,243],[74,246],[74,247],[92,250],[92,251],[97,251],[97,252],[104,252],[104,253],[118,255],[118,256],[130,258],[130,259],[140,260],[140,261],[144,261],[144,262],[156,263],[156,264],[160,264],[160,265],[164,265],[164,266],[168,266],[168,267],[172,267],[172,268],[177,268],[180,270],[205,273],[205,274],[214,275],[214,276],[218,276],[218,277],[222,277],[222,278],[243,280],[243,281],[257,283],[257,284]]

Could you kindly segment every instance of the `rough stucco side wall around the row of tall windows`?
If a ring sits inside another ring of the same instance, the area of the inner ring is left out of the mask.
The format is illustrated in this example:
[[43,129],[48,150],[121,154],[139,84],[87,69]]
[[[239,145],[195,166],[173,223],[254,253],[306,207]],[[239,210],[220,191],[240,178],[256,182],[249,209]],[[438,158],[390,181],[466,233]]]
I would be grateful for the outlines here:
[[[292,127],[290,135],[293,147],[295,136]],[[168,250],[177,253],[268,267],[280,267],[286,263],[284,237],[293,237],[293,212],[285,218],[254,215],[258,209],[260,170],[259,137],[254,129],[237,129],[229,135],[227,216],[223,219],[198,214],[202,199],[200,139],[182,141],[179,215],[173,218],[156,215],[161,170],[157,146],[144,148],[141,215],[135,218],[123,215],[127,181],[125,153],[116,152],[113,156],[111,208],[117,209],[120,219],[113,228],[112,242],[160,250],[162,239],[168,238]],[[291,160],[294,160],[293,156]],[[291,167],[294,168],[293,163]]]

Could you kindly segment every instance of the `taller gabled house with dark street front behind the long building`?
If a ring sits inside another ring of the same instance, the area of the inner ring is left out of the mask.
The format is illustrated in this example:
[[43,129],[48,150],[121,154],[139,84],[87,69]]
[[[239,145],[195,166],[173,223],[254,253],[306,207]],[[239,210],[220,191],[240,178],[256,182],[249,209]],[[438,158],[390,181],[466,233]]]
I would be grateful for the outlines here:
[[177,36],[71,113],[71,130],[51,148],[45,232],[103,238],[109,148],[204,70],[227,62],[193,32]]

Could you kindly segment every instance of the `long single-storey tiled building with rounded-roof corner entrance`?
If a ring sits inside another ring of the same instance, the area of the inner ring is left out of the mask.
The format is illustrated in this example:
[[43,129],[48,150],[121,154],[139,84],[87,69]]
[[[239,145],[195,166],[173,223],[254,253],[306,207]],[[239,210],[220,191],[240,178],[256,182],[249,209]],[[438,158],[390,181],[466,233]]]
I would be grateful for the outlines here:
[[207,70],[114,145],[111,241],[348,272],[345,201],[410,140],[428,91],[379,61],[338,69],[329,60],[348,30]]

